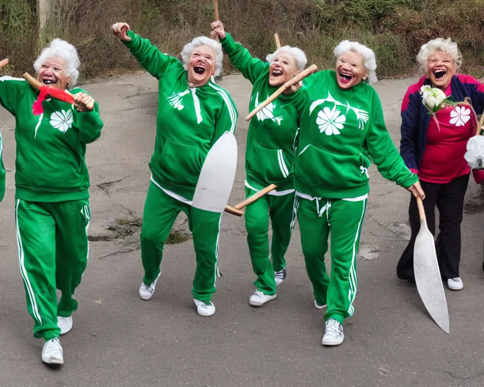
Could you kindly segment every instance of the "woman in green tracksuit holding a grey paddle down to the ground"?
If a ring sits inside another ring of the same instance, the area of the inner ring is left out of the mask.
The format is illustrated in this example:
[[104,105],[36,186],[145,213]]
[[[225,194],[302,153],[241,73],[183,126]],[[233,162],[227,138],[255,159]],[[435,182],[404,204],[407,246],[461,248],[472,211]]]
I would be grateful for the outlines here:
[[[312,75],[300,119],[294,161],[296,208],[315,305],[327,311],[323,345],[343,342],[343,321],[353,314],[356,254],[367,207],[371,160],[387,179],[423,197],[383,120],[374,52],[357,42],[335,48],[336,71]],[[324,254],[331,231],[331,276]]]

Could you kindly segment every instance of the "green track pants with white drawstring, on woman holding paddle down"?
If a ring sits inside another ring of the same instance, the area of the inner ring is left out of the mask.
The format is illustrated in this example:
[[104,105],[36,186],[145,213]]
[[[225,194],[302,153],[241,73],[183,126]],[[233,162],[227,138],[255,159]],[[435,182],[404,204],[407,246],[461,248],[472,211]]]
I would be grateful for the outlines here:
[[[367,199],[332,201],[296,197],[295,203],[302,253],[316,302],[328,305],[325,320],[333,318],[343,324],[354,311],[356,254]],[[324,264],[330,231],[331,279]]]

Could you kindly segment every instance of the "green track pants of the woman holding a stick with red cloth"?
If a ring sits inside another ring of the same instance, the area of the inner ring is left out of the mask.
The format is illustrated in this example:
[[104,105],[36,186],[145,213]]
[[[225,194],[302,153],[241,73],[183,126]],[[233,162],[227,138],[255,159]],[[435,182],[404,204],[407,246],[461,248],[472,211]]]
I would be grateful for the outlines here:
[[[69,317],[77,310],[72,295],[88,261],[89,200],[16,200],[15,220],[20,273],[27,309],[35,321],[34,337],[48,341],[61,333],[57,316]],[[58,304],[55,289],[62,291]]]

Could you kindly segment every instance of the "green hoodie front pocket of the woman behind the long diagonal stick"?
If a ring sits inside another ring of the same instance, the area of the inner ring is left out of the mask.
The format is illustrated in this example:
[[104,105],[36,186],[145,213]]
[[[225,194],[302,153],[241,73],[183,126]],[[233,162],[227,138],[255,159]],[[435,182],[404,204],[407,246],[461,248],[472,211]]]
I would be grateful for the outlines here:
[[292,172],[291,162],[281,149],[267,149],[255,141],[246,155],[251,174],[260,182],[277,184],[285,180]]

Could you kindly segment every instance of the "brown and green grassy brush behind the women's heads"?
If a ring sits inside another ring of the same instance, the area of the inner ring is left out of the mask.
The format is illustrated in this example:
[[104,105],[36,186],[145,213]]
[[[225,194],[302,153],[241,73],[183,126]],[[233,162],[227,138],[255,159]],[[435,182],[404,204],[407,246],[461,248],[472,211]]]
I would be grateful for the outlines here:
[[[282,44],[295,45],[320,69],[334,66],[333,49],[358,40],[377,56],[379,78],[416,71],[421,44],[451,37],[464,56],[461,72],[484,75],[484,0],[219,0],[226,31],[254,56]],[[9,66],[0,74],[33,72],[40,49],[53,37],[73,43],[82,62],[81,81],[139,70],[110,30],[116,21],[149,38],[163,52],[177,56],[185,43],[209,36],[214,20],[211,0],[55,0],[45,37],[39,38],[35,0],[0,0],[0,58]],[[233,71],[225,61],[224,73]]]

